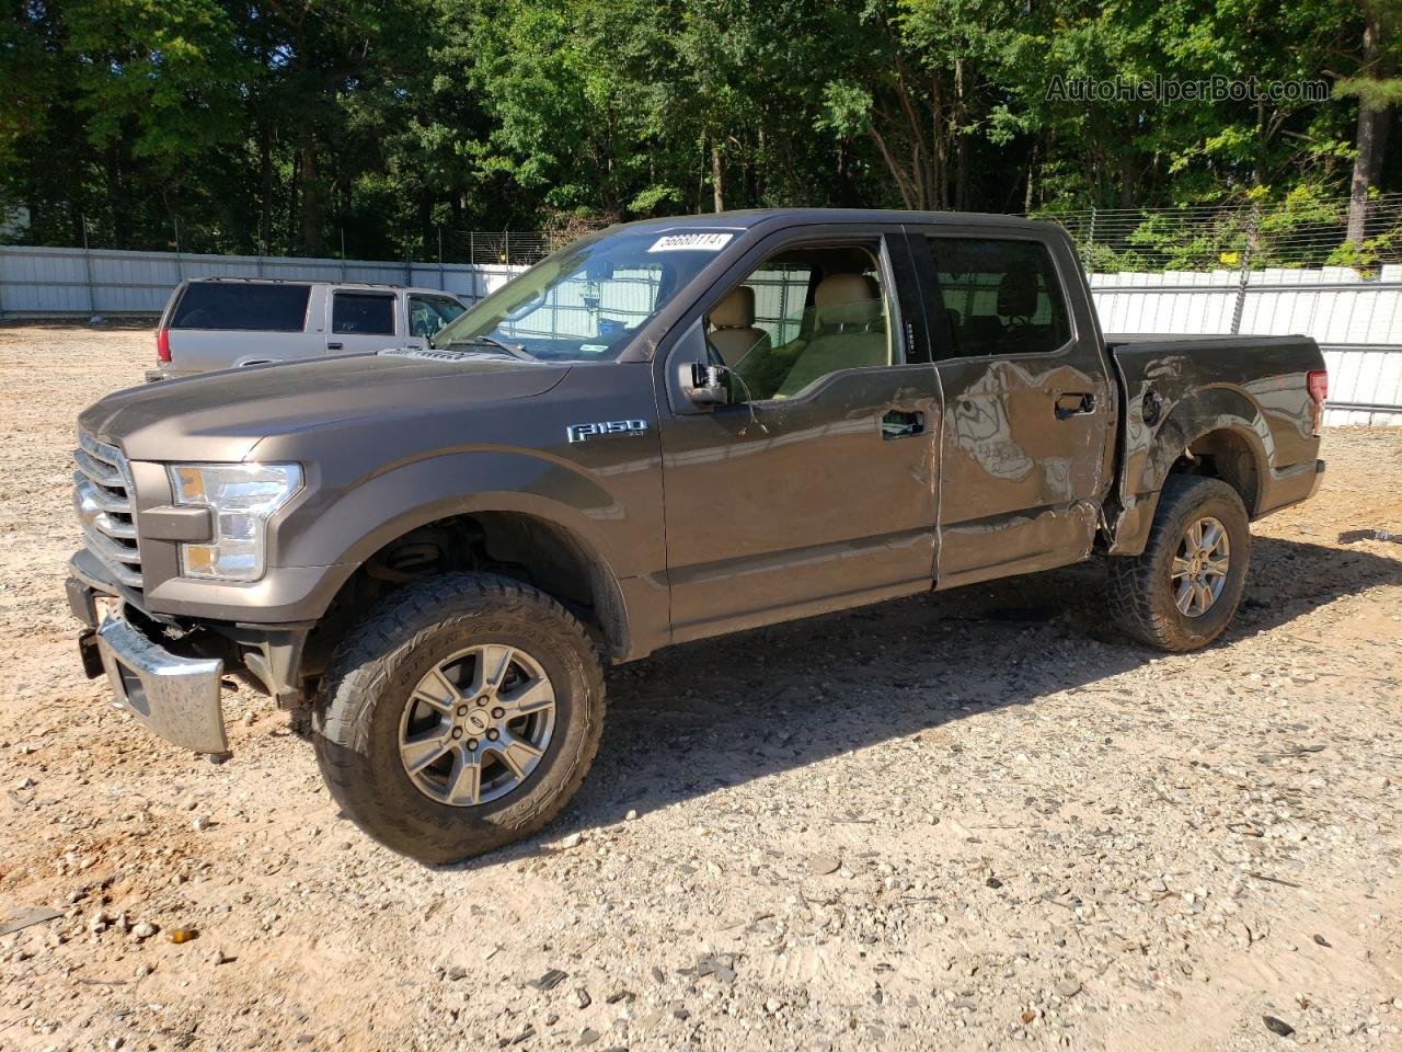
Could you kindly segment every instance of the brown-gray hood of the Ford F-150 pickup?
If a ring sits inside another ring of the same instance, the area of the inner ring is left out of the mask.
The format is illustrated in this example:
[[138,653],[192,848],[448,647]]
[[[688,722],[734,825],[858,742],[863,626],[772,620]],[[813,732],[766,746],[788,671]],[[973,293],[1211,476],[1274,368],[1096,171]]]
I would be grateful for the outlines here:
[[360,417],[407,417],[548,391],[568,365],[508,358],[437,362],[349,355],[129,387],[90,405],[79,426],[132,460],[233,461],[262,439]]

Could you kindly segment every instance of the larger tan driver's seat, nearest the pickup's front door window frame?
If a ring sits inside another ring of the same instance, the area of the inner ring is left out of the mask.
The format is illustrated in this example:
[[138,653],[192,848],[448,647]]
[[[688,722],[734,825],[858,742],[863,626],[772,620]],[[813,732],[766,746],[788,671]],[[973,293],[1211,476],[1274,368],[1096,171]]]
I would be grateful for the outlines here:
[[889,365],[886,303],[864,274],[831,274],[813,292],[817,330],[780,384],[775,397],[798,394],[838,369]]

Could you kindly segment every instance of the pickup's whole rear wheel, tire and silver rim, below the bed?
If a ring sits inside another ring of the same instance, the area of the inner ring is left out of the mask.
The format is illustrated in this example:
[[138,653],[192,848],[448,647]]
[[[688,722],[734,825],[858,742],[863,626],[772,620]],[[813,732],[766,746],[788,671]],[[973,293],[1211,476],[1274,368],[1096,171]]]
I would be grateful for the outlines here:
[[1227,630],[1246,588],[1246,506],[1221,480],[1169,476],[1143,554],[1109,562],[1120,631],[1165,651],[1206,647]]

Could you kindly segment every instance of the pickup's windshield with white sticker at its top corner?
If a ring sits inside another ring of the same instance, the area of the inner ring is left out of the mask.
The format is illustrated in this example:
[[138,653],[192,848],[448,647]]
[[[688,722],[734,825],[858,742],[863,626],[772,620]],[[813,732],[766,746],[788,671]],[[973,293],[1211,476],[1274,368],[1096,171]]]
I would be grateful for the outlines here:
[[470,307],[433,337],[433,346],[611,360],[735,234],[711,227],[586,237]]

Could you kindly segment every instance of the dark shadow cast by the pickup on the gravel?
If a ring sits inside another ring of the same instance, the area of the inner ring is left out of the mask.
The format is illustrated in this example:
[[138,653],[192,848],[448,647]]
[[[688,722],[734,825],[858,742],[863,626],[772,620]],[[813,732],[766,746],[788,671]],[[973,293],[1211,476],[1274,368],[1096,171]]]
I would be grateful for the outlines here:
[[[1252,561],[1242,610],[1217,647],[1342,596],[1402,585],[1402,560],[1347,548],[1258,537]],[[1103,567],[1088,562],[687,644],[621,666],[608,676],[593,771],[550,836],[990,708],[1035,704],[1148,663],[1155,651],[1109,627],[1102,582]]]

